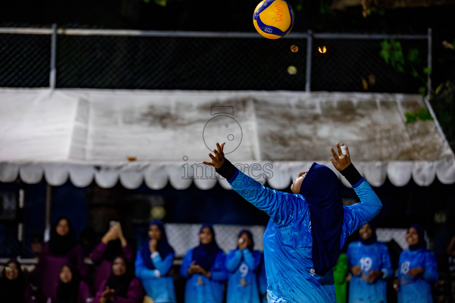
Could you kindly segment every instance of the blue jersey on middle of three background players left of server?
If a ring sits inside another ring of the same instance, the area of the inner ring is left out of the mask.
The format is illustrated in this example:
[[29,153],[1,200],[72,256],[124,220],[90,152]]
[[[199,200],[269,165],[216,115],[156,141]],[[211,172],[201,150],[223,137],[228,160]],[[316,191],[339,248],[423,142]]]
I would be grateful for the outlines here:
[[180,275],[187,278],[185,285],[185,303],[222,303],[223,282],[227,280],[225,267],[226,255],[220,251],[215,257],[215,262],[210,268],[211,277],[193,273],[190,275],[188,269],[192,263],[193,250],[187,251],[182,260]]

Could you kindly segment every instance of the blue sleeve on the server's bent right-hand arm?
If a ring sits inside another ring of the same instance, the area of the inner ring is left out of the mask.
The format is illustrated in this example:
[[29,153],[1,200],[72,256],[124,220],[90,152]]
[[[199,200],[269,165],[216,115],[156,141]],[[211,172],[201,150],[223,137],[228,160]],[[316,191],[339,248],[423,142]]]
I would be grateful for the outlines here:
[[[369,220],[376,217],[382,208],[381,200],[379,200],[374,190],[364,178],[360,179],[360,181],[353,186],[353,189],[359,196],[360,203],[351,206],[343,206],[343,226],[348,233],[346,237],[356,229],[364,226]],[[344,243],[342,243],[342,246],[343,244]]]

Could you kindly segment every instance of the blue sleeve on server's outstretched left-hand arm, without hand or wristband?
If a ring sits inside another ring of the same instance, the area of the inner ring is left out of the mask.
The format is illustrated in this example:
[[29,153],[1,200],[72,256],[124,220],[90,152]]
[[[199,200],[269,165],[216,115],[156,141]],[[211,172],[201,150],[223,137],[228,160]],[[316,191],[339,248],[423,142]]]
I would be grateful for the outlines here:
[[298,212],[308,210],[303,196],[269,189],[239,170],[229,183],[245,200],[265,211],[275,224],[287,225]]

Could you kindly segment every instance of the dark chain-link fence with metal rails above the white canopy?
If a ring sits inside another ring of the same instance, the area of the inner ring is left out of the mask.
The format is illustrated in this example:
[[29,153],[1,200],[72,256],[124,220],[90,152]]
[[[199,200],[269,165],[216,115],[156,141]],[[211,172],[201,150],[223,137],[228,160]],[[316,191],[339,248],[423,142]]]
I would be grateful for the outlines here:
[[257,33],[0,28],[0,86],[417,93],[425,83],[379,55],[384,39],[399,41],[404,52],[418,49],[419,68],[431,66],[430,30],[308,31],[267,40]]

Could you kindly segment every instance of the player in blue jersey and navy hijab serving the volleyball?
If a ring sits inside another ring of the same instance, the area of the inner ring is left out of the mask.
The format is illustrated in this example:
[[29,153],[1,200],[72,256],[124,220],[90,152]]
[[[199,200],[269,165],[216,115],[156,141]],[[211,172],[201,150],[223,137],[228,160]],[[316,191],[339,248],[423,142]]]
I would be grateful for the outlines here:
[[[269,303],[336,302],[333,266],[346,238],[382,207],[371,186],[337,144],[332,164],[354,188],[361,203],[344,206],[337,175],[313,163],[293,180],[293,194],[268,189],[224,158],[223,147],[209,154],[218,174],[248,202],[269,216],[263,243]],[[341,144],[343,147],[343,144]]]

